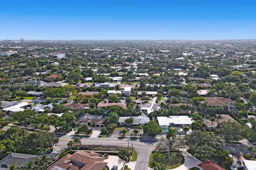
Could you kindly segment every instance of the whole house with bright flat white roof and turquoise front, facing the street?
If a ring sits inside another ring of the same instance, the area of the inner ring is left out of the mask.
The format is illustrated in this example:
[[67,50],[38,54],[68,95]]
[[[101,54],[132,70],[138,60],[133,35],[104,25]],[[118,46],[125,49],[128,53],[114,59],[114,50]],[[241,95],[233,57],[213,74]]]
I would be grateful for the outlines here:
[[183,127],[190,127],[191,124],[194,122],[188,116],[158,116],[157,121],[163,132],[167,132],[169,128],[177,128],[178,133],[182,133]]

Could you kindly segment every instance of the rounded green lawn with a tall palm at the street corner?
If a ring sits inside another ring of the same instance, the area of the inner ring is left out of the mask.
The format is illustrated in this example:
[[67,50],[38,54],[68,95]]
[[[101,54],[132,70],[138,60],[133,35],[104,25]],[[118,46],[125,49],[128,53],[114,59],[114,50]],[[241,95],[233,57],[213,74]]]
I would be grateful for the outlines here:
[[166,169],[173,169],[181,166],[185,159],[180,152],[171,152],[171,158],[168,159],[166,152],[153,152],[149,158],[149,167],[153,168],[150,163],[157,162],[161,166],[165,166]]

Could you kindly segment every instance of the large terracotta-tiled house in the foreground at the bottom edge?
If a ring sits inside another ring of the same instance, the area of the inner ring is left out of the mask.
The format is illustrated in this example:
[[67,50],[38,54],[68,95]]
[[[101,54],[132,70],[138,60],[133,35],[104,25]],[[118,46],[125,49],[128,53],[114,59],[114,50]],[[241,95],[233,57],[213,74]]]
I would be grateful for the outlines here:
[[45,170],[103,170],[108,163],[104,162],[105,158],[99,155],[93,151],[78,150],[72,155],[67,154],[58,159]]

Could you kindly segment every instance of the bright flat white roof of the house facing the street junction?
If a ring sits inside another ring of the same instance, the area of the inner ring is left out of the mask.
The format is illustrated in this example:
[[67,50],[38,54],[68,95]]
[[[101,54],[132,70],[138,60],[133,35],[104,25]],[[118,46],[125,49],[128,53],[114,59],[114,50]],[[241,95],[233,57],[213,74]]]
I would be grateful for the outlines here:
[[160,126],[169,126],[171,123],[174,125],[192,124],[193,121],[188,116],[159,116],[157,117]]

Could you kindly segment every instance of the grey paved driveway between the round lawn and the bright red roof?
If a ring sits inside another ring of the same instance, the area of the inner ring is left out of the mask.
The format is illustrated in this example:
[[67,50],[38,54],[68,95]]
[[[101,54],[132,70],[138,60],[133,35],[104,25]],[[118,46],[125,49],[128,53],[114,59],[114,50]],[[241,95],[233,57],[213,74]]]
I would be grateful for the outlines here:
[[202,169],[201,167],[198,166],[198,164],[201,164],[201,160],[195,158],[191,154],[189,154],[186,150],[182,150],[182,155],[184,156],[185,162],[178,168],[174,168],[172,170],[188,170],[189,168],[192,167],[198,167]]

